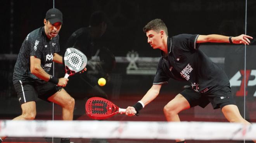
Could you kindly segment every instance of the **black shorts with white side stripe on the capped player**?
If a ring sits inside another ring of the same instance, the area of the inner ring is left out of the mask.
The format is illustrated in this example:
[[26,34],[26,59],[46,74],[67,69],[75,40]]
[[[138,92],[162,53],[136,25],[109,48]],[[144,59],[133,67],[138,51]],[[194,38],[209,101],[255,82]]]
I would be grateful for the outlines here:
[[47,99],[50,96],[61,90],[61,87],[58,87],[51,82],[41,80],[18,81],[13,85],[19,99],[19,104],[23,104],[29,101],[36,102],[37,98],[48,101]]

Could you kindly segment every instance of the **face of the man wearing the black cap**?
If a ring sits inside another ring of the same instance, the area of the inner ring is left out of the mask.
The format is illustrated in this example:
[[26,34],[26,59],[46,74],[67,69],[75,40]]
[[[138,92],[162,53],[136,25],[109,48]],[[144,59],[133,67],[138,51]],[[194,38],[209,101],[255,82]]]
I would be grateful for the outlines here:
[[45,34],[49,39],[58,35],[61,30],[61,22],[55,22],[54,24],[50,24],[49,21],[44,20],[45,24]]

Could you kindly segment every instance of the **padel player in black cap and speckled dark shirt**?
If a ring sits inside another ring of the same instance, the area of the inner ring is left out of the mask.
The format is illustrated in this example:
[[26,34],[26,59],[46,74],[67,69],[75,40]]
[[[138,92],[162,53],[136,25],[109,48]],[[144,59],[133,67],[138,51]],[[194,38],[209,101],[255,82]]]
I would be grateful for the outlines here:
[[57,8],[48,10],[43,23],[43,27],[30,32],[24,39],[14,67],[13,84],[22,109],[22,114],[14,120],[35,119],[37,97],[59,104],[63,120],[73,119],[74,98],[61,89],[67,85],[68,79],[50,74],[53,62],[62,64],[62,56],[57,54],[62,12]]

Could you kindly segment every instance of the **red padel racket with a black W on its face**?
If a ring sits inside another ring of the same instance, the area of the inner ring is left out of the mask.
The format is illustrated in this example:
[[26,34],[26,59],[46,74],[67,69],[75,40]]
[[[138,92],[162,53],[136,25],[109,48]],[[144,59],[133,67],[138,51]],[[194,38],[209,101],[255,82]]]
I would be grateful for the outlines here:
[[125,113],[126,109],[119,108],[107,99],[92,97],[87,100],[85,111],[92,119],[106,119],[118,113]]

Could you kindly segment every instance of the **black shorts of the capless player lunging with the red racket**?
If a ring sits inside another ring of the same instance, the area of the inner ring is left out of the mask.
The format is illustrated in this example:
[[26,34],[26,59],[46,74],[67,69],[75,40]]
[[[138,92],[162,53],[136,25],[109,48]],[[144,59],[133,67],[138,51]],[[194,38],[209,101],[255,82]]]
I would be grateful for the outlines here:
[[224,86],[213,93],[198,93],[193,89],[185,89],[180,94],[189,101],[190,107],[201,106],[205,108],[209,103],[213,109],[223,108],[226,105],[234,104],[235,100],[231,94],[230,86]]

